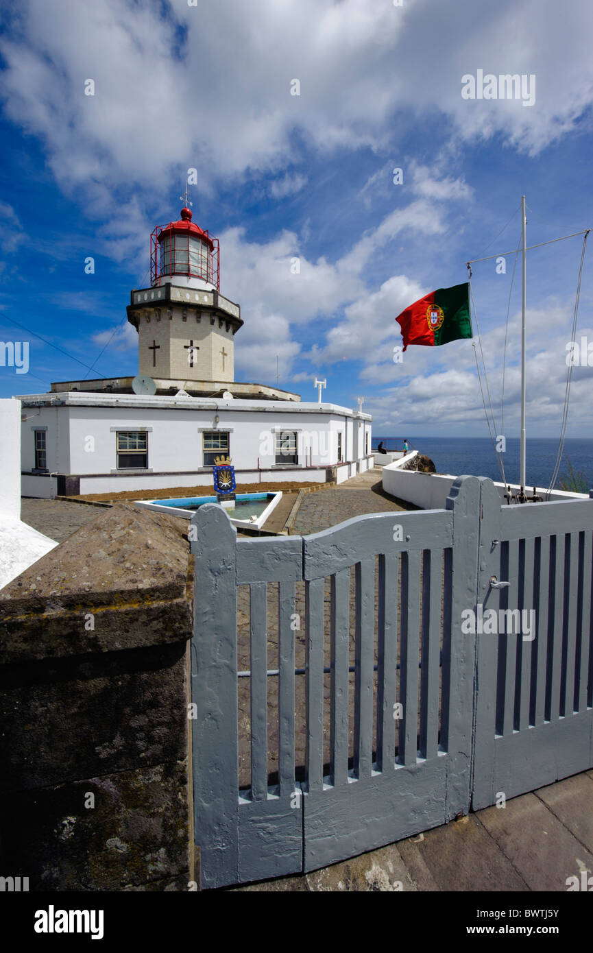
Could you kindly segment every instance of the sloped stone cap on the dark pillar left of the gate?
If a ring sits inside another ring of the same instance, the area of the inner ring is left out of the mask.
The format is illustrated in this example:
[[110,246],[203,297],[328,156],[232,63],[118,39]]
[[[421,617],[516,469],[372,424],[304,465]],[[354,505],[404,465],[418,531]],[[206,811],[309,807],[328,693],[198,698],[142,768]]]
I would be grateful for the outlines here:
[[190,639],[186,532],[128,503],[98,511],[0,592],[0,663]]

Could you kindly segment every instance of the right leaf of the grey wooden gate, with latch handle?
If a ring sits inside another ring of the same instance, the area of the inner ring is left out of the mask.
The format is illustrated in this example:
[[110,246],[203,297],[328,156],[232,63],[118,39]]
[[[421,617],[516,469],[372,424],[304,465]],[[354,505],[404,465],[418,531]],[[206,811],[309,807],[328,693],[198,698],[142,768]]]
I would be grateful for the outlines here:
[[[476,809],[593,765],[592,539],[593,502],[501,507],[481,479],[482,618],[515,617],[477,636]],[[534,630],[518,633],[530,611]]]

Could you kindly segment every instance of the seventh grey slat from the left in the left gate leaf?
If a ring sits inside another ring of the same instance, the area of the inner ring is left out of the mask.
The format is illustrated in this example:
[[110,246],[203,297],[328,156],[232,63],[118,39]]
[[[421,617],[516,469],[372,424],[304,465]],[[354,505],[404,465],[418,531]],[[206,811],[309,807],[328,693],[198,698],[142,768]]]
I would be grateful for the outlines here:
[[419,558],[418,552],[401,559],[401,647],[399,686],[403,717],[399,721],[401,764],[415,764],[418,758],[419,689]]

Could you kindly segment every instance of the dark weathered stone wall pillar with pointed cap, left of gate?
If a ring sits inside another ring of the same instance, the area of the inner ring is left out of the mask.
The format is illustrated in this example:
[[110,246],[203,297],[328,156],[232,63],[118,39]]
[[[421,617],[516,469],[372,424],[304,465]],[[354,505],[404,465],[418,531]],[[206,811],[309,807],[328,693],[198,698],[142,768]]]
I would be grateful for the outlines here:
[[0,875],[187,890],[187,522],[128,504],[0,591]]

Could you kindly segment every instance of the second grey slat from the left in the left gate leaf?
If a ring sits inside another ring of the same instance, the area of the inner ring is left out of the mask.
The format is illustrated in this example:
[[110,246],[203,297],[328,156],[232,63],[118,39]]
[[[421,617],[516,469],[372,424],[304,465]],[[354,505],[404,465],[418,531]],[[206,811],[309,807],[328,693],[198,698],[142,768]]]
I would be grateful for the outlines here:
[[295,583],[278,583],[278,775],[280,797],[295,788]]

